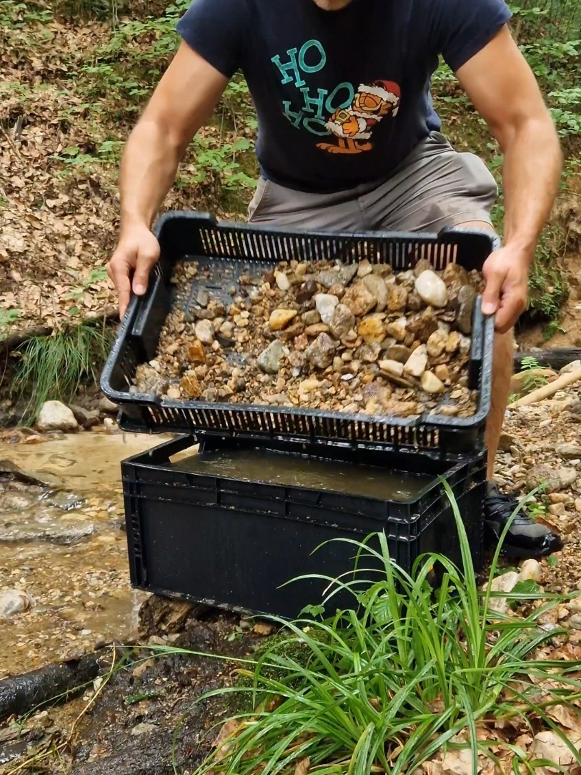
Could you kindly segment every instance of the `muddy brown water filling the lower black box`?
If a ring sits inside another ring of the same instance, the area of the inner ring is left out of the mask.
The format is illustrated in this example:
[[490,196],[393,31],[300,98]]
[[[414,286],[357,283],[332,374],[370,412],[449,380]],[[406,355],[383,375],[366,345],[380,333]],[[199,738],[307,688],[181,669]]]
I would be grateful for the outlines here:
[[174,463],[174,469],[201,476],[306,487],[383,501],[410,501],[434,479],[429,474],[313,460],[259,449],[193,455]]

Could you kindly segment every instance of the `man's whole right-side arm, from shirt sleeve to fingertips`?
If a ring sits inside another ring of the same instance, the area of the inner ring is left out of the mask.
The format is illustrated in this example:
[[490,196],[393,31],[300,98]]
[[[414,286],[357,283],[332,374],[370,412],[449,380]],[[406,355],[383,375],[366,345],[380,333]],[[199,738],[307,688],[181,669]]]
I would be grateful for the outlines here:
[[497,329],[507,332],[526,308],[528,270],[559,190],[559,138],[506,26],[457,76],[504,153],[504,247],[484,265],[483,312],[496,312]]

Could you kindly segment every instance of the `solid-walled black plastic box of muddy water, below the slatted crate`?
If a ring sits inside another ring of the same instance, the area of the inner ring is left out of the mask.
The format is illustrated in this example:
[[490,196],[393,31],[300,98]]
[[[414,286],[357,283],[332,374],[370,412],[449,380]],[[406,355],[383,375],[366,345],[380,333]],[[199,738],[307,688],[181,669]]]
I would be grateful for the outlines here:
[[[381,531],[390,556],[406,570],[431,551],[461,565],[456,522],[438,476],[452,487],[476,570],[482,566],[483,454],[446,458],[328,448],[326,459],[336,470],[344,467],[350,477],[347,494],[282,484],[280,476],[273,484],[268,476],[193,473],[187,463],[170,461],[194,444],[195,439],[184,436],[122,463],[131,580],[140,589],[230,610],[294,617],[305,605],[321,602],[326,584],[309,579],[281,585],[304,574],[335,578],[352,570],[356,548],[331,539],[361,541]],[[274,450],[267,442],[206,438],[201,459],[224,450],[234,461],[247,450],[268,453],[278,456],[281,467],[284,455],[297,458],[292,444]],[[299,457],[312,465],[321,460],[321,450],[304,445]],[[394,471],[427,476],[428,482],[403,499],[362,494],[370,472],[382,477]],[[353,479],[358,475],[359,482]],[[334,598],[332,608],[342,605],[352,605],[348,594]]]

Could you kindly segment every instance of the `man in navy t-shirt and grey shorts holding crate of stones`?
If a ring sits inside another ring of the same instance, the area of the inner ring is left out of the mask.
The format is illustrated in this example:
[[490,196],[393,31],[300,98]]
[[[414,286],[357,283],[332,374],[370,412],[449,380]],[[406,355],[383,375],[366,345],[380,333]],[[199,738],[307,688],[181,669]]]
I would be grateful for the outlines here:
[[[159,246],[150,227],[188,143],[239,68],[256,105],[262,177],[251,222],[305,229],[492,229],[497,187],[483,162],[439,133],[429,93],[442,55],[504,153],[504,247],[486,261],[496,315],[487,427],[486,520],[500,536],[514,500],[492,484],[507,405],[512,327],[559,184],[559,141],[507,28],[504,0],[194,0],[180,49],[125,150],[122,223],[109,274],[121,312],[143,294]],[[525,515],[507,546],[562,544]]]

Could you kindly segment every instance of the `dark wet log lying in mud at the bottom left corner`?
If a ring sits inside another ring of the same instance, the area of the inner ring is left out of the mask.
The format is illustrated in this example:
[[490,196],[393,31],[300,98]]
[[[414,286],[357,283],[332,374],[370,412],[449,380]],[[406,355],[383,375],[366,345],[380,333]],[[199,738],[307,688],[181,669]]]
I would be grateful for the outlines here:
[[102,653],[87,654],[81,660],[46,665],[0,680],[0,722],[51,700],[67,701],[71,694],[98,677],[101,656]]

